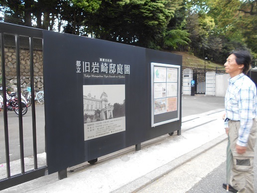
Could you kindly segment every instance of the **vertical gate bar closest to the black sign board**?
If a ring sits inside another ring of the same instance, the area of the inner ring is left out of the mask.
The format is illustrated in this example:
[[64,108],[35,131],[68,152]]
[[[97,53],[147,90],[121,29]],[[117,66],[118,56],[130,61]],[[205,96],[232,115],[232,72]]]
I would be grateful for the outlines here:
[[33,61],[33,37],[29,37],[30,53],[30,88],[31,88],[31,112],[32,112],[32,132],[33,132],[33,154],[34,169],[37,170],[37,145],[36,145],[36,113],[35,113],[35,90],[34,90],[34,61]]

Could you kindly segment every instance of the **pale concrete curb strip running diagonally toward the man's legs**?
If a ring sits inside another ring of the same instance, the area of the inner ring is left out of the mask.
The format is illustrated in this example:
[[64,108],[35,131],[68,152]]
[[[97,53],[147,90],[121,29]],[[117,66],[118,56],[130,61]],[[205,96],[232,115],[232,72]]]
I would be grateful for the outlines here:
[[211,148],[215,147],[216,145],[222,143],[223,141],[227,140],[227,135],[224,134],[195,150],[180,156],[179,158],[172,160],[171,162],[149,172],[148,174],[132,181],[131,183],[113,191],[112,193],[135,193],[140,189],[146,187],[147,185],[153,183],[154,181],[158,180],[162,176],[170,173],[171,171],[175,170],[176,168],[182,166],[186,162],[196,158],[200,154],[210,150]]

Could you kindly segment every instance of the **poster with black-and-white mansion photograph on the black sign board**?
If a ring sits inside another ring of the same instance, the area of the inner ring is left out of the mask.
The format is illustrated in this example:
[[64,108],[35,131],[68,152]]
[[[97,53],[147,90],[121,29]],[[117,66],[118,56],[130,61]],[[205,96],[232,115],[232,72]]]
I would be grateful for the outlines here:
[[125,84],[84,85],[84,140],[126,131]]

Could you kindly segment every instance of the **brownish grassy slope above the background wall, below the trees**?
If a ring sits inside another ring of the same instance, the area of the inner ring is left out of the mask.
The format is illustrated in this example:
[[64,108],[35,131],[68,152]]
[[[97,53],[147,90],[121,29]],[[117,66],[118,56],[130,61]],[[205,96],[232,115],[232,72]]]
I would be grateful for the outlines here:
[[[204,60],[194,55],[190,55],[188,54],[188,52],[175,51],[172,53],[182,55],[182,66],[204,68]],[[206,60],[205,64],[206,68],[210,69],[215,69],[216,67],[224,67],[223,64],[216,64],[213,62],[209,62],[208,60]]]

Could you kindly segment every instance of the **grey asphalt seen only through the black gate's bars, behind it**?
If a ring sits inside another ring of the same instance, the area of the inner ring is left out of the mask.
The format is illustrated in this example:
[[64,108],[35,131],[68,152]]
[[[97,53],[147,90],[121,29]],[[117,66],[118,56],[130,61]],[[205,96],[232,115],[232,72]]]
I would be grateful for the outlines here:
[[[45,122],[44,122],[44,105],[36,105],[36,136],[37,136],[37,153],[45,152]],[[19,143],[19,118],[14,111],[7,111],[8,136],[9,136],[9,157],[10,161],[20,159]],[[31,107],[28,112],[22,116],[23,125],[23,143],[24,157],[33,155],[32,139],[32,114]],[[5,140],[4,140],[3,112],[0,112],[0,164],[5,163]]]

